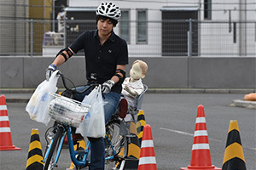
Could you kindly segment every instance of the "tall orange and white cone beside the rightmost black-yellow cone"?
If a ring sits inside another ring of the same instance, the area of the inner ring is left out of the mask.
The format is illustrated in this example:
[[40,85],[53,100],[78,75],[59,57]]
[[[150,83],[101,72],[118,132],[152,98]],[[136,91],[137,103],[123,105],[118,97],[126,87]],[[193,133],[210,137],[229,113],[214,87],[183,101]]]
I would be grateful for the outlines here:
[[194,142],[192,146],[191,161],[188,167],[181,167],[181,170],[217,170],[221,169],[212,165],[210,146],[207,134],[207,122],[205,111],[202,105],[198,106],[195,121]]

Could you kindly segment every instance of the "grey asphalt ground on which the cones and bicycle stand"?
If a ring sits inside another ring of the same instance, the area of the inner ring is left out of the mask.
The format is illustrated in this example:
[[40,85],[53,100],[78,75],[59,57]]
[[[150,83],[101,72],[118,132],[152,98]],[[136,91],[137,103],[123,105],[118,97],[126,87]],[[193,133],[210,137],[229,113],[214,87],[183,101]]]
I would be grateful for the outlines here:
[[[0,151],[1,169],[26,168],[27,150],[32,128],[38,128],[42,148],[44,132],[49,127],[29,119],[25,111],[32,89],[1,89],[5,95],[13,144],[22,150]],[[247,170],[255,170],[255,103],[243,102],[245,94],[255,89],[148,89],[143,99],[146,122],[152,127],[158,170],[174,170],[190,164],[197,106],[205,108],[212,165],[222,167],[230,120],[237,120]],[[251,106],[248,106],[251,105]],[[70,165],[68,150],[63,150],[57,169]]]

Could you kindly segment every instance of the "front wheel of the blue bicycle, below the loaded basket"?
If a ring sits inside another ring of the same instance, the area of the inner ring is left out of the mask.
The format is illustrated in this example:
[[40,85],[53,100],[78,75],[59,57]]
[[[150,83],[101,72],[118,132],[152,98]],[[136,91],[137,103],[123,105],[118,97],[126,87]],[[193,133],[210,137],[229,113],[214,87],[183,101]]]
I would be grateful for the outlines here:
[[55,161],[55,159],[57,156],[57,150],[59,149],[63,132],[64,127],[59,127],[57,132],[55,133],[55,138],[53,139],[53,141],[51,141],[52,144],[49,148],[49,156],[47,157],[46,162],[44,164],[44,170],[52,170],[54,169],[54,167],[56,167],[55,162],[57,162],[57,160]]

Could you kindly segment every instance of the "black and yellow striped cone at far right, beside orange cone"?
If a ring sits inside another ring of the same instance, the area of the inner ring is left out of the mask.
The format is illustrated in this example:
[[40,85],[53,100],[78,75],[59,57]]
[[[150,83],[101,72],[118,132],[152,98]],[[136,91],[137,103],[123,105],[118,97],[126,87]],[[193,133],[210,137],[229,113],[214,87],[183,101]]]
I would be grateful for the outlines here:
[[222,170],[246,170],[237,121],[230,121]]

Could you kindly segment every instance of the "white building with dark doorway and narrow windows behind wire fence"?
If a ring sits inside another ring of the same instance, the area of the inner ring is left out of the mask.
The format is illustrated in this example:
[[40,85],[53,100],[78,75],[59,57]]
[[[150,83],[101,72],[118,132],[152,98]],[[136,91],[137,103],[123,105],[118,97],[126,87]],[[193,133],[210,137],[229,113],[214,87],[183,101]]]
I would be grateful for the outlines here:
[[[67,20],[95,20],[102,1],[69,0]],[[126,0],[113,1],[122,9],[115,32],[128,42],[132,55],[207,56],[253,55],[256,52],[254,0]],[[73,23],[74,24],[74,23]],[[95,23],[88,21],[88,29]],[[78,25],[78,26],[77,26]],[[83,28],[70,26],[69,37]],[[72,32],[73,31],[73,32]],[[73,38],[68,38],[73,41]],[[69,43],[69,42],[67,42]]]

